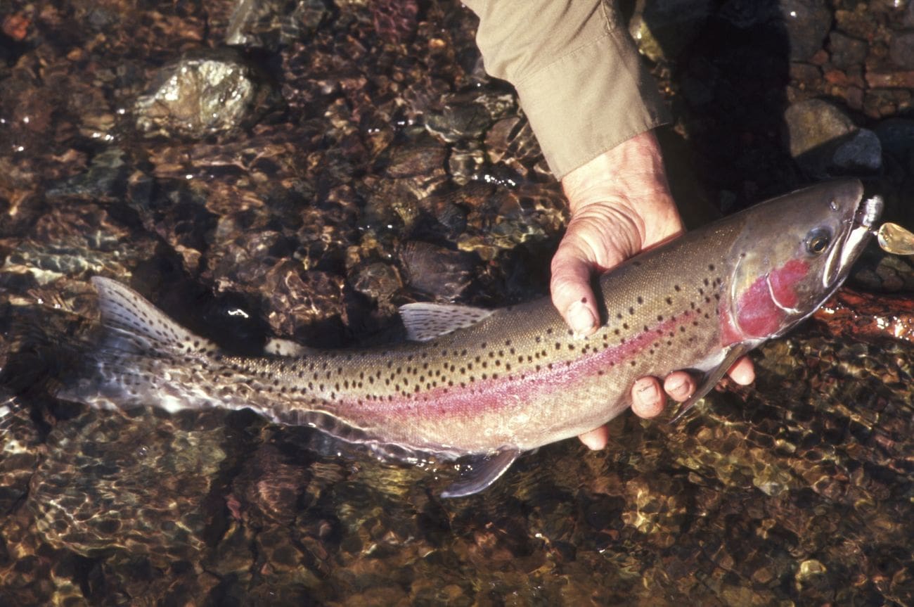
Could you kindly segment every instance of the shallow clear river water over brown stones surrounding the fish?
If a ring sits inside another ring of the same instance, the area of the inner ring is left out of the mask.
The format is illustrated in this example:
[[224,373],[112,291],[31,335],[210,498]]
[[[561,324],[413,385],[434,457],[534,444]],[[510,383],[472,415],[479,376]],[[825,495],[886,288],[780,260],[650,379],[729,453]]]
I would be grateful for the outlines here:
[[[914,225],[914,3],[626,3],[696,225],[862,176]],[[567,220],[459,3],[0,5],[0,603],[909,605],[914,272],[867,252],[685,421],[377,462],[250,410],[54,399],[127,282],[239,353],[547,293]],[[910,51],[910,53],[908,52]]]

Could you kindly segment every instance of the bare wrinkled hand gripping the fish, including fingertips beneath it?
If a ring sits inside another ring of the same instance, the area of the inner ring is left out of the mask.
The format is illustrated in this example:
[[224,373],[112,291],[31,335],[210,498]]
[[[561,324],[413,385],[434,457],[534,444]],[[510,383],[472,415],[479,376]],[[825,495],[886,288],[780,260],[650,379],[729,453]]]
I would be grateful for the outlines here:
[[[571,220],[552,258],[552,303],[578,335],[597,330],[600,315],[590,289],[590,274],[605,272],[640,250],[678,236],[682,220],[666,183],[663,157],[654,133],[641,133],[579,166],[562,179]],[[729,375],[749,384],[755,371],[740,358]],[[675,400],[688,399],[696,380],[675,371],[664,390]],[[640,378],[632,386],[632,410],[643,418],[659,415],[665,406],[657,378]],[[609,438],[605,426],[580,435],[590,449],[602,449]]]

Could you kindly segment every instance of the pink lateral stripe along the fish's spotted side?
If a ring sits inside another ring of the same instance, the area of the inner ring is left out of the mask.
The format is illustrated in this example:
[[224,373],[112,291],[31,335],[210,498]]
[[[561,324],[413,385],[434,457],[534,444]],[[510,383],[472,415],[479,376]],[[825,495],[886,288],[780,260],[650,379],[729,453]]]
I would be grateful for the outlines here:
[[[497,379],[476,380],[472,387],[468,385],[466,388],[454,386],[421,390],[414,395],[398,396],[391,400],[363,399],[361,404],[356,404],[350,398],[345,399],[345,405],[386,419],[395,414],[408,416],[419,410],[425,417],[430,414],[447,417],[454,412],[460,412],[462,415],[491,412],[494,407],[506,402],[527,402],[534,395],[542,397],[544,390],[558,392],[581,378],[597,376],[600,372],[610,372],[612,368],[629,362],[654,342],[663,341],[663,335],[674,331],[685,322],[690,322],[695,316],[694,311],[679,314],[675,318],[650,327],[647,332],[626,339],[624,344],[607,347],[574,358],[567,363],[554,362],[552,368],[548,367],[548,363],[543,363],[539,371],[526,371],[523,374],[524,378],[516,372],[499,372]],[[580,341],[579,347],[588,346],[590,343],[592,342]],[[511,378],[508,378],[509,375]]]

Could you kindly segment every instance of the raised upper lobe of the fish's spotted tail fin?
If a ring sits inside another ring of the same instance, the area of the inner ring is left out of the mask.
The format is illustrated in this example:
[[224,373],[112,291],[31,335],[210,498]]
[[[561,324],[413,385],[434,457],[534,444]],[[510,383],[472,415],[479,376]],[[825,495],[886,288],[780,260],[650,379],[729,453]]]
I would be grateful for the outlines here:
[[101,324],[108,330],[104,346],[134,353],[211,354],[218,346],[194,335],[150,304],[140,293],[110,278],[94,276]]

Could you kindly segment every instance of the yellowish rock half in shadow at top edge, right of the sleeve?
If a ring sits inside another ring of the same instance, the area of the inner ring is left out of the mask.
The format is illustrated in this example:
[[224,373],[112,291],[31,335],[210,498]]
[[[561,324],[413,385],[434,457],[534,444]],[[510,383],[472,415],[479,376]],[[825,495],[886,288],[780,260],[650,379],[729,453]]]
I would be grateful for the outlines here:
[[629,20],[629,33],[652,61],[677,60],[711,13],[709,0],[664,0],[639,7],[642,10]]

